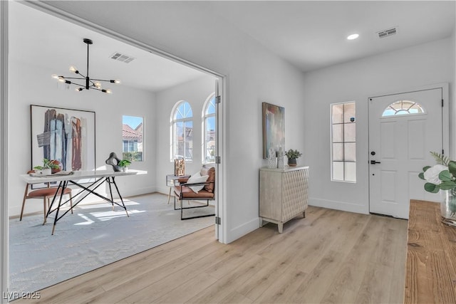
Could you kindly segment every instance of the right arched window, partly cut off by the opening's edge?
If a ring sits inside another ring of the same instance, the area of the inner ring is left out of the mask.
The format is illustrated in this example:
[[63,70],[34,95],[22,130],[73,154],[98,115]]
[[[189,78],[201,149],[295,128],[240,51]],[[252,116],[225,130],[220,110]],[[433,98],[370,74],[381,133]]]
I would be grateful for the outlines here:
[[209,95],[202,110],[202,162],[215,162],[215,93]]

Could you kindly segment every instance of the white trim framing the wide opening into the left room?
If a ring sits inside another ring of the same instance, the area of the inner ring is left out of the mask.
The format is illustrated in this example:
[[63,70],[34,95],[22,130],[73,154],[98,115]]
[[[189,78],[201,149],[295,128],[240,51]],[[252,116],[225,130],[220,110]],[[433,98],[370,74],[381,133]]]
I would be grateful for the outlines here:
[[[224,157],[226,155],[226,138],[224,136],[226,127],[226,113],[227,113],[227,98],[226,96],[226,75],[221,73],[217,73],[214,70],[209,70],[208,68],[204,68],[201,65],[197,65],[190,61],[186,61],[185,59],[179,58],[174,56],[170,53],[160,50],[159,48],[155,48],[154,46],[150,46],[147,43],[142,43],[141,41],[135,40],[128,36],[124,36],[120,33],[110,30],[109,28],[105,28],[103,26],[99,26],[98,24],[92,23],[90,21],[86,21],[85,19],[78,18],[77,16],[73,16],[68,14],[66,11],[62,11],[61,9],[56,9],[53,6],[50,6],[46,3],[40,1],[23,1],[22,4],[32,7],[33,9],[38,9],[39,11],[43,11],[46,14],[51,14],[52,16],[56,16],[60,19],[66,20],[71,23],[75,23],[78,26],[83,26],[85,28],[89,28],[92,31],[96,31],[98,33],[102,33],[105,36],[110,38],[115,38],[118,41],[122,41],[124,43],[128,43],[131,46],[135,46],[137,48],[141,48],[142,50],[148,51],[150,53],[154,53],[158,56],[162,56],[167,58],[171,61],[175,61],[177,63],[181,63],[183,65],[187,65],[190,68],[195,68],[196,70],[200,70],[204,73],[208,73],[209,75],[213,75],[215,78],[219,79],[219,93],[221,96],[222,103],[220,104],[221,111],[219,115],[219,121],[217,122],[217,127],[219,127],[219,156],[222,159],[222,162],[218,165],[217,170],[217,201],[219,204],[218,208],[218,216],[222,219],[222,223],[219,225],[219,242],[220,243],[227,243],[227,220],[225,219],[226,212],[226,194],[224,192],[224,188],[226,187],[226,179],[225,179],[225,170],[224,170]],[[9,279],[9,271],[8,271],[8,252],[9,252],[9,233],[8,233],[8,204],[7,204],[7,192],[8,189],[8,171],[5,164],[8,163],[9,152],[8,152],[8,140],[9,140],[9,132],[8,132],[8,1],[1,1],[0,0],[0,26],[1,26],[1,38],[0,38],[0,68],[1,68],[1,80],[0,80],[0,110],[1,110],[1,125],[0,125],[0,166],[2,169],[0,170],[0,250],[1,250],[1,258],[0,258],[0,303],[7,303],[7,299],[4,299],[3,295],[8,294],[8,279]]]

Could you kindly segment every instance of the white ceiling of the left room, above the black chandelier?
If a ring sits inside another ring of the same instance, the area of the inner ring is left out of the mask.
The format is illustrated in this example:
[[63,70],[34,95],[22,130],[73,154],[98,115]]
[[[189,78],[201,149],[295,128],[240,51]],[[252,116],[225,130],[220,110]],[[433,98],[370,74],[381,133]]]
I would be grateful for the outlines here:
[[[157,92],[207,75],[24,4],[11,1],[9,8],[9,58],[13,61],[50,68],[52,73],[68,77],[75,76],[68,70],[75,65],[86,75],[87,44],[83,38],[90,38],[90,78],[120,79],[122,85]],[[114,61],[110,59],[114,52],[135,60]],[[115,91],[114,84],[103,88]]]

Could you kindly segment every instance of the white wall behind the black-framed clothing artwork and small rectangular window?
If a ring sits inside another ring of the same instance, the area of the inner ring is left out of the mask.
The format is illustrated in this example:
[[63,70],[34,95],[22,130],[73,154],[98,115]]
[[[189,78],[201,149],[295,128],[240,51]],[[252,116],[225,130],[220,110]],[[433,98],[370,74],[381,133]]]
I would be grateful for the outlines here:
[[[14,164],[9,167],[9,216],[21,212],[25,184],[19,174],[25,174],[31,167],[38,165],[31,164],[31,104],[95,111],[97,167],[105,165],[105,159],[110,152],[115,152],[118,157],[122,156],[122,115],[144,117],[145,161],[134,162],[130,168],[146,170],[149,174],[119,177],[116,182],[123,196],[155,190],[156,132],[153,93],[125,85],[113,87],[112,95],[95,90],[77,93],[73,87],[69,90],[58,88],[58,83],[50,77],[55,73],[53,70],[24,65],[18,61],[10,61],[9,64],[9,163]],[[27,73],[24,73],[24,70]],[[40,200],[28,200],[25,212],[41,211],[42,208]]]

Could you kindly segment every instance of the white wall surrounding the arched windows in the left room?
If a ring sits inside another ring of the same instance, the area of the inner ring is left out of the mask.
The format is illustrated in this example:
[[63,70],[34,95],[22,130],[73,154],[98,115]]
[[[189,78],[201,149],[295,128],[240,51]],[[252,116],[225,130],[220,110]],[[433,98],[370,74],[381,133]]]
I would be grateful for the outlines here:
[[174,162],[170,161],[170,116],[172,108],[180,100],[186,100],[190,103],[193,112],[193,161],[185,162],[185,173],[194,174],[201,169],[202,107],[209,95],[214,93],[214,83],[215,78],[208,75],[155,94],[157,104],[157,118],[155,120],[157,126],[157,142],[155,144],[157,145],[157,172],[155,177],[158,192],[168,194],[170,190],[165,184],[166,174],[174,173]]

